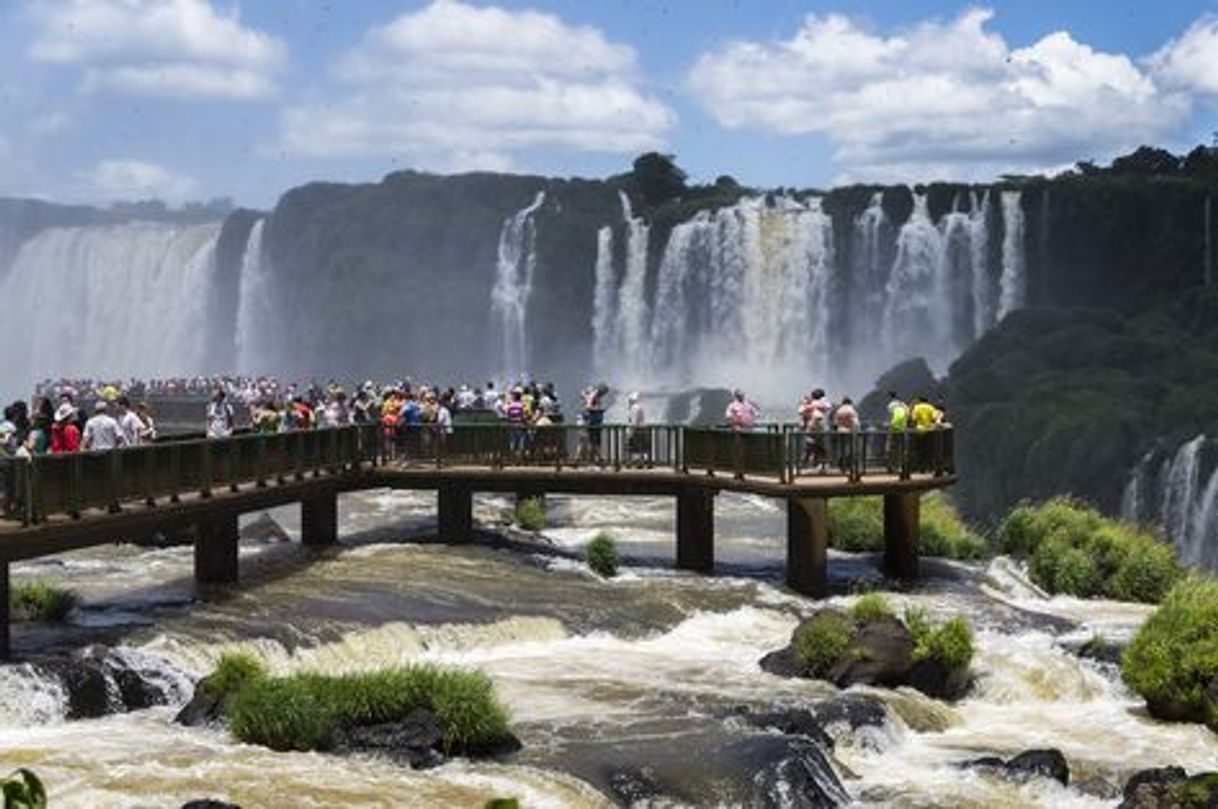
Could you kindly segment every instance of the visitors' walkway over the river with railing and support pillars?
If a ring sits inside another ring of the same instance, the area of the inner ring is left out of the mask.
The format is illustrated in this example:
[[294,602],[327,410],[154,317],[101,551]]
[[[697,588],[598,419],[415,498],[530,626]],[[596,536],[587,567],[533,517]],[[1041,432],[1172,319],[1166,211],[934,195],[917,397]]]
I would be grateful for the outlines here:
[[379,425],[164,441],[106,452],[5,459],[0,519],[0,655],[9,654],[9,567],[157,532],[194,530],[195,580],[239,579],[241,514],[301,504],[301,540],[337,541],[337,496],[432,490],[437,536],[473,537],[473,496],[508,492],[671,496],[676,565],[713,573],[714,498],[748,492],[787,501],[787,582],[821,596],[827,502],[882,496],[884,569],[917,575],[922,493],[955,482],[952,433],[806,434],[681,425],[434,425],[386,435]]

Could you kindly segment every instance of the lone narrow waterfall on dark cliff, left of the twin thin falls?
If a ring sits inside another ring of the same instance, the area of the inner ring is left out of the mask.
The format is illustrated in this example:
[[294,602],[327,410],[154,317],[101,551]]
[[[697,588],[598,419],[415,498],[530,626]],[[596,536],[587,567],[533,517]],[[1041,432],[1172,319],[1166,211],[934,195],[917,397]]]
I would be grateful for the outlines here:
[[502,369],[509,375],[524,376],[527,373],[529,299],[537,268],[537,230],[532,217],[544,202],[546,191],[537,191],[533,201],[504,219],[499,229],[491,311],[499,323]]

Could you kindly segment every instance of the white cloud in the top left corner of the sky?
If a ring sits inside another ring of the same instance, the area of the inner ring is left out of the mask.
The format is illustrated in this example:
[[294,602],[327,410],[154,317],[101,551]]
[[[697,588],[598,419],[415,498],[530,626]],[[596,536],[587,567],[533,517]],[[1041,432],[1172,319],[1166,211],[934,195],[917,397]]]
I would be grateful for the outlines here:
[[209,0],[41,0],[32,58],[85,68],[86,91],[258,99],[286,48]]

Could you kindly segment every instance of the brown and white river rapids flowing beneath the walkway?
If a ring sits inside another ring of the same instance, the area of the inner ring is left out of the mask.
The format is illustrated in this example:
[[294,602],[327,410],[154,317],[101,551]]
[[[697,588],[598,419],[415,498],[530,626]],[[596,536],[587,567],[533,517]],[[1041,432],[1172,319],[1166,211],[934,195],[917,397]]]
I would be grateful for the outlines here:
[[[434,662],[490,674],[525,747],[508,763],[414,772],[369,757],[278,754],[218,730],[173,725],[172,708],[62,721],[62,694],[28,666],[0,669],[0,769],[27,765],[55,805],[152,807],[213,796],[244,805],[480,805],[518,796],[529,807],[608,805],[611,768],[648,765],[687,802],[738,805],[759,738],[737,705],[809,704],[825,684],[762,673],[815,602],[781,582],[784,512],[760,497],[716,506],[717,578],[671,569],[671,502],[549,498],[553,551],[443,547],[432,496],[367,492],[340,503],[347,547],[247,543],[244,584],[186,606],[189,548],[99,548],[17,567],[78,588],[86,609],[71,631],[111,637],[156,660],[164,677],[206,673],[222,651],[261,653],[276,671],[352,671]],[[480,498],[476,518],[502,521],[509,502]],[[295,534],[294,509],[275,518]],[[609,530],[628,564],[611,581],[568,556]],[[1111,666],[1063,648],[1101,632],[1128,636],[1147,608],[1046,598],[1005,559],[988,569],[926,563],[898,607],[967,615],[978,629],[974,690],[955,705],[909,691],[857,688],[888,705],[882,729],[839,737],[837,769],[861,805],[1101,807],[1133,770],[1212,765],[1218,737],[1149,719]],[[834,554],[833,587],[877,576],[875,560]],[[836,596],[831,603],[847,603]],[[52,637],[63,637],[66,631]],[[22,648],[52,642],[18,632]],[[184,693],[185,685],[180,688]],[[764,737],[760,737],[764,741]],[[1073,781],[1006,782],[956,766],[980,754],[1052,746]]]

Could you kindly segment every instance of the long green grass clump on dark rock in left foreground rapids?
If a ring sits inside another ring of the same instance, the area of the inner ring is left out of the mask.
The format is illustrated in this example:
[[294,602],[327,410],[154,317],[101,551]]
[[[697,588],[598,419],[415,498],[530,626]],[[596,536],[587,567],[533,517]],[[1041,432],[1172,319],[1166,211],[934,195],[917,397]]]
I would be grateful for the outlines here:
[[490,747],[508,735],[508,714],[479,671],[414,665],[364,674],[255,677],[229,713],[244,742],[274,751],[324,751],[339,726],[392,722],[423,708],[445,731],[446,752]]

